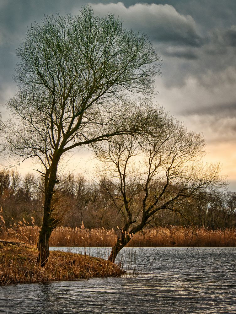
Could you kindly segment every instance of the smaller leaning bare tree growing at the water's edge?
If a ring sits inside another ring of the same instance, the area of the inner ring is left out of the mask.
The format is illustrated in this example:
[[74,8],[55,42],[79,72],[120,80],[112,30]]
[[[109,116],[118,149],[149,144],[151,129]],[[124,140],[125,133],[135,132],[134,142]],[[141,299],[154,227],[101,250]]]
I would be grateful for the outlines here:
[[118,135],[95,148],[113,181],[112,185],[103,181],[103,188],[123,217],[109,257],[113,262],[137,232],[152,224],[158,211],[169,210],[188,219],[183,208],[189,198],[215,195],[225,184],[219,165],[201,164],[205,141],[200,134],[187,132],[162,108],[150,106],[149,110],[153,123],[147,125],[146,133]]

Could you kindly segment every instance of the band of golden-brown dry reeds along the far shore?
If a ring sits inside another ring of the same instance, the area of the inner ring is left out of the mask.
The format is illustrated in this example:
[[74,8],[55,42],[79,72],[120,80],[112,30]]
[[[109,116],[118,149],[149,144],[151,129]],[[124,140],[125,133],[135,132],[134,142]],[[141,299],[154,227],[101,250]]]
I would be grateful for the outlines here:
[[[19,223],[4,229],[0,239],[20,241],[36,245],[39,227]],[[53,230],[50,246],[113,246],[115,230],[58,227]],[[210,230],[202,227],[182,226],[159,227],[136,234],[129,246],[236,246],[236,228]]]

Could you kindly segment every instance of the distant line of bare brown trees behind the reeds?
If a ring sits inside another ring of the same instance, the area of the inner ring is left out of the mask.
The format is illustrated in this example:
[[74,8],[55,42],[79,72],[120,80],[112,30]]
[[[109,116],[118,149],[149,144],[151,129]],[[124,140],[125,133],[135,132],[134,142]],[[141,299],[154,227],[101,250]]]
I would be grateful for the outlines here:
[[[122,216],[117,214],[117,208],[103,186],[99,182],[89,181],[81,174],[69,174],[60,178],[53,206],[58,217],[63,216],[62,225],[117,230],[116,226],[123,224]],[[0,171],[0,206],[6,228],[10,228],[13,221],[30,222],[31,217],[34,217],[34,224],[40,226],[43,191],[43,180],[40,177],[31,173],[22,177],[16,170]],[[115,193],[117,195],[117,191]],[[194,225],[212,230],[236,226],[236,193],[229,191],[218,197],[209,196],[207,200],[202,198],[202,201],[189,198],[188,202],[181,204],[181,212],[183,215],[180,216],[169,210],[158,211],[152,225]]]

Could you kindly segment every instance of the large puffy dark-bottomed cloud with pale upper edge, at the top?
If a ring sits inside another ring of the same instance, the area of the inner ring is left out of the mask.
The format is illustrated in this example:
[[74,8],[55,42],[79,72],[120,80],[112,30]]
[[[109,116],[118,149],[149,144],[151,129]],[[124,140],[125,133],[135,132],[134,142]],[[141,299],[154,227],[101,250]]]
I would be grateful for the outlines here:
[[190,15],[179,14],[172,5],[136,3],[127,8],[122,2],[89,5],[96,14],[109,12],[119,16],[126,28],[147,33],[153,41],[197,47],[202,45],[194,19]]

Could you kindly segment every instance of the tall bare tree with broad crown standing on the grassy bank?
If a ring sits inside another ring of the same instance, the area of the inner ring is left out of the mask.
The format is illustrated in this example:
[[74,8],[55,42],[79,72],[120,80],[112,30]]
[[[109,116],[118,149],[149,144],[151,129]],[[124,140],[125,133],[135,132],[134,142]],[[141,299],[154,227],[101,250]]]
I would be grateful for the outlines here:
[[17,50],[18,93],[8,101],[13,120],[6,138],[13,155],[41,162],[44,217],[38,261],[49,257],[49,238],[59,223],[51,206],[57,169],[71,149],[138,133],[147,116],[133,93],[153,95],[160,57],[146,35],[122,28],[88,6],[78,16],[46,16],[35,22]]

